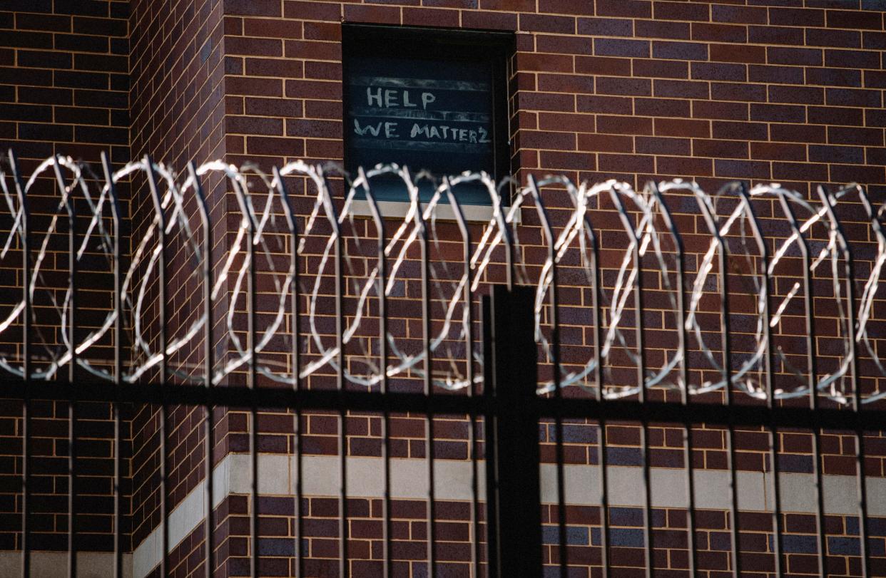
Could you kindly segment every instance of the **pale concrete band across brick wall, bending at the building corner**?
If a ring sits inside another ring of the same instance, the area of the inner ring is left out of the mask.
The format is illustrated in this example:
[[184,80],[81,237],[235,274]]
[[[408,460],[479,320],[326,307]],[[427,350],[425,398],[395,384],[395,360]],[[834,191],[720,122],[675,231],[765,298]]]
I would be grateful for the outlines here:
[[[291,496],[295,494],[297,456],[260,455],[259,492],[262,495]],[[249,495],[252,461],[248,454],[232,453],[222,459],[214,470],[214,506],[231,494]],[[338,497],[340,478],[337,456],[304,456],[302,458],[302,493],[306,497]],[[381,458],[347,459],[348,497],[384,497],[384,461]],[[556,504],[556,466],[541,466],[541,501]],[[483,495],[486,464],[478,462],[478,489]],[[470,501],[471,463],[469,461],[437,460],[434,462],[434,489],[440,501]],[[424,459],[392,459],[391,491],[395,499],[425,499],[428,495],[428,468]],[[566,503],[600,505],[599,466],[563,466]],[[642,506],[642,468],[609,466],[610,505]],[[694,470],[696,508],[727,510],[729,508],[729,472],[726,470]],[[738,504],[742,511],[768,512],[773,507],[772,475],[762,472],[738,472]],[[780,474],[782,512],[814,513],[815,495],[812,474]],[[662,508],[686,508],[685,472],[681,469],[651,468],[652,505]],[[858,515],[856,479],[848,475],[823,476],[825,512],[836,515]],[[169,517],[170,551],[198,527],[206,516],[204,482],[175,507]],[[886,478],[867,478],[867,512],[870,516],[886,516]],[[138,545],[132,554],[133,578],[144,578],[161,558],[162,527]]]

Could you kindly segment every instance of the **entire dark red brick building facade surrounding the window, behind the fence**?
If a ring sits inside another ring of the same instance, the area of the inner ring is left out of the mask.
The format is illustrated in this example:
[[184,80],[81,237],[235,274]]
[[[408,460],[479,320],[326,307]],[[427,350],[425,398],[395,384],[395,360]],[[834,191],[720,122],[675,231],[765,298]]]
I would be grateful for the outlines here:
[[[180,171],[190,159],[199,163],[221,158],[236,165],[248,160],[266,169],[297,158],[342,162],[349,130],[343,122],[343,26],[427,27],[427,35],[443,28],[494,30],[513,33],[506,101],[510,172],[520,181],[529,174],[563,173],[576,182],[617,178],[641,188],[650,179],[680,177],[693,179],[706,190],[734,180],[779,181],[810,198],[820,183],[857,181],[882,200],[886,195],[884,18],[886,4],[879,0],[9,0],[0,10],[0,135],[4,148],[8,143],[18,152],[26,174],[55,153],[95,162],[101,150],[110,150],[118,166],[150,154]],[[129,196],[133,239],[152,219],[146,187],[136,179],[131,193],[124,193]],[[237,201],[221,179],[208,181],[206,189],[221,254],[237,230],[237,222],[230,218]],[[309,192],[302,192],[300,202],[307,214]],[[700,220],[694,219],[686,217],[696,227],[690,230],[703,232]],[[609,220],[601,215],[601,222],[605,230],[618,230],[611,215]],[[528,212],[522,227],[526,238],[534,238],[532,231],[540,238],[538,224]],[[478,236],[480,230],[476,225]],[[869,246],[872,239],[853,241]],[[624,240],[612,235],[604,243],[620,250],[618,243]],[[526,259],[531,260],[532,254],[527,253]],[[180,266],[183,257],[171,262]],[[64,263],[58,266],[63,268]],[[307,259],[304,266],[310,266]],[[486,281],[501,280],[492,275]],[[565,298],[582,305],[580,293],[567,293]],[[197,308],[188,307],[175,308],[175,327],[184,327],[197,314]],[[99,424],[94,458],[107,459],[113,451],[100,425],[108,420],[106,409],[87,418]],[[132,552],[128,564],[136,578],[156,574],[161,558],[157,411],[143,406],[128,415],[131,516],[127,528]],[[18,412],[17,407],[4,411],[4,459],[20,452]],[[49,421],[64,421],[57,418],[62,415],[60,406],[47,405],[38,412]],[[248,470],[247,417],[246,412],[229,408],[214,412],[216,487],[226,491],[217,510],[218,575],[248,574],[247,522],[252,506],[248,482],[241,475]],[[175,575],[202,572],[202,527],[193,516],[195,508],[200,512],[198,489],[203,483],[201,420],[199,409],[176,406],[167,421],[168,499],[175,546],[169,569]],[[371,480],[373,467],[378,466],[372,460],[379,455],[380,418],[357,414],[347,420],[350,455],[367,460],[367,480]],[[259,548],[266,565],[261,567],[262,575],[295,572],[294,505],[287,477],[294,443],[291,421],[286,413],[260,417],[262,471],[269,473],[268,486],[261,489],[266,501],[260,505]],[[437,511],[438,570],[441,575],[469,575],[466,499],[470,496],[462,466],[470,464],[466,461],[470,423],[455,418],[435,423],[439,469],[453,481]],[[314,482],[306,482],[307,499],[302,505],[307,520],[302,538],[309,558],[307,575],[337,575],[338,505],[334,494],[324,488],[324,482],[334,482],[336,414],[305,415],[301,428],[307,472],[314,475]],[[630,487],[641,465],[636,449],[639,428],[629,424],[607,428],[610,465],[620,467]],[[552,432],[551,426],[541,424],[542,457],[548,467],[555,461]],[[565,458],[574,468],[575,480],[583,479],[582,466],[595,464],[595,432],[595,426],[585,421],[565,427]],[[410,467],[418,467],[416,462],[424,458],[424,419],[394,416],[390,433],[398,468],[408,473]],[[668,483],[667,468],[681,464],[680,429],[651,427],[649,435],[649,459],[662,471],[661,483]],[[782,472],[799,476],[794,487],[803,493],[812,472],[811,436],[780,435]],[[859,521],[838,498],[840,476],[854,472],[850,438],[845,432],[822,435],[823,473],[831,484],[828,488],[833,488],[826,497],[834,500],[827,517],[831,575],[860,575]],[[39,455],[59,460],[58,469],[46,476],[60,480],[64,477],[60,459],[66,449],[59,445],[60,435],[47,434],[45,439],[52,442]],[[737,432],[735,439],[740,493],[753,503],[740,520],[743,566],[746,575],[767,575],[773,571],[767,512],[771,506],[761,494],[766,474],[772,471],[766,458],[768,441],[762,431]],[[706,483],[726,483],[724,430],[699,426],[694,441],[694,465],[709,476]],[[878,482],[886,480],[882,432],[870,436],[868,452],[867,475]],[[4,512],[15,512],[17,507],[15,490],[10,489],[19,480],[14,471],[9,466],[0,473],[7,488],[4,500],[12,500],[6,501]],[[543,467],[543,477],[550,474]],[[107,482],[106,475],[102,479]],[[394,484],[392,556],[397,560],[396,574],[424,575],[424,494],[408,479],[406,475]],[[754,484],[760,489],[752,489],[757,488]],[[46,496],[56,491],[47,489]],[[576,492],[575,502],[568,506],[570,563],[575,575],[596,575],[588,566],[599,563],[599,508],[595,498]],[[717,576],[725,575],[729,564],[728,520],[725,494],[712,494],[699,518],[699,569]],[[98,497],[106,495],[107,491],[97,492]],[[349,508],[351,568],[354,575],[378,575],[380,499],[375,489],[355,496]],[[549,499],[550,493],[545,496],[548,503],[556,501]],[[623,507],[612,512],[613,564],[619,566],[618,575],[640,575],[641,504],[631,492],[618,499],[613,504]],[[758,499],[761,504],[755,502]],[[795,505],[785,518],[787,570],[791,575],[817,574],[813,516],[802,500]],[[84,507],[89,506],[84,503]],[[98,500],[97,511],[107,507]],[[47,514],[49,528],[41,530],[44,541],[37,542],[38,550],[64,547],[59,528],[63,529],[66,510],[61,505],[56,509]],[[882,575],[886,512],[872,510],[872,516],[878,516],[872,518],[870,536],[877,564],[874,574]],[[91,537],[83,539],[81,549],[108,551],[106,516],[82,516],[82,520],[90,520],[94,528],[82,530]],[[553,505],[546,507],[543,523],[546,561],[556,564]],[[686,526],[680,506],[657,507],[654,525],[657,572],[685,575],[687,551],[680,536]],[[0,548],[14,551],[17,536],[14,524],[0,529]]]

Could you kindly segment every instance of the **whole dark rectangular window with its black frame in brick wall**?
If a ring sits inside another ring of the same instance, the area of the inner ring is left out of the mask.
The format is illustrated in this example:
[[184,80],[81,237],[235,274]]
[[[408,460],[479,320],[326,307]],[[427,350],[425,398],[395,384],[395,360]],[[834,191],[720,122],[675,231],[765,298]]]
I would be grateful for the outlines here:
[[[439,28],[343,27],[345,166],[408,166],[436,177],[510,173],[507,58],[513,35]],[[383,202],[407,201],[396,180],[373,181]],[[421,188],[423,199],[433,187]],[[481,186],[460,204],[489,204]]]

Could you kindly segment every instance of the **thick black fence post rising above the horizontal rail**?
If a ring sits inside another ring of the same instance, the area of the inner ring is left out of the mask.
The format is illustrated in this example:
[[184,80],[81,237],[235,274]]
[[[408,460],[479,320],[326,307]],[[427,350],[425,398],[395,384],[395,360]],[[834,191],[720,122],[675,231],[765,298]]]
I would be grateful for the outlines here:
[[486,520],[490,576],[541,575],[538,352],[535,291],[493,287],[483,298],[486,395]]

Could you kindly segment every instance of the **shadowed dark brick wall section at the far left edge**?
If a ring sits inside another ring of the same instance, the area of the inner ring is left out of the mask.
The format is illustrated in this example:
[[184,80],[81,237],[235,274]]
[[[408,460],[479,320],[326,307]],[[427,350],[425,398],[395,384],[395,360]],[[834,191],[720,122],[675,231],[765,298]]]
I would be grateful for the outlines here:
[[[103,150],[114,163],[129,158],[128,10],[128,2],[108,0],[12,1],[0,5],[0,148],[4,157],[9,147],[15,150],[24,178],[33,173],[40,161],[57,153],[92,163],[98,161]],[[100,166],[96,170],[100,173]],[[5,158],[4,173],[8,174]],[[68,178],[69,173],[63,173]],[[35,231],[45,230],[58,204],[51,170],[44,176],[49,178],[37,181],[31,191]],[[11,186],[12,181],[7,181],[7,185]],[[125,186],[120,187],[120,194],[125,207]],[[79,214],[86,213],[81,202],[77,209]],[[81,223],[85,227],[85,220],[81,219]],[[4,231],[11,228],[12,220],[4,221]],[[18,244],[3,263],[6,304],[12,303],[13,296],[15,300],[20,298],[21,252],[17,249]],[[48,297],[63,297],[67,285],[67,258],[58,252],[62,250],[66,250],[64,238],[52,238],[35,293],[35,325],[40,326],[50,346],[61,343],[58,314]],[[97,246],[90,244],[81,269],[91,273],[84,277],[90,281],[81,284],[81,297],[85,300],[78,310],[78,330],[84,332],[79,335],[86,335],[97,327],[111,303],[106,276],[110,266]],[[19,288],[18,292],[11,292],[13,287]],[[4,335],[4,356],[15,351],[10,349],[9,339],[20,338],[20,328],[16,329],[18,335]],[[106,364],[107,350],[103,352],[99,347],[97,351],[91,361]],[[61,379],[65,375],[66,370]],[[126,412],[125,408],[123,411]],[[81,438],[77,460],[80,497],[74,505],[80,512],[76,520],[80,529],[78,548],[113,551],[111,406],[80,404],[76,412],[75,435]],[[19,402],[4,402],[0,417],[4,423],[0,517],[6,520],[0,530],[0,549],[4,551],[20,548],[21,415]],[[37,400],[32,405],[32,547],[39,551],[67,548],[67,416],[66,403]],[[121,451],[128,457],[126,424],[121,435]],[[124,476],[127,466],[128,461],[124,461]],[[124,481],[122,490],[126,492],[127,487]],[[124,533],[128,533],[128,520],[122,523]]]

